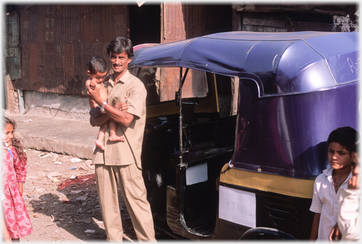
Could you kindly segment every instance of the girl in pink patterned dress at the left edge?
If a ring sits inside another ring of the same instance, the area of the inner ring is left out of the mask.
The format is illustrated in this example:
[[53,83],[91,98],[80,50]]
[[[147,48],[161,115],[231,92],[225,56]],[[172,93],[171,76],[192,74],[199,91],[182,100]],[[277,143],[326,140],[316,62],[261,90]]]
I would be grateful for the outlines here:
[[9,240],[10,236],[13,241],[19,241],[20,237],[33,233],[33,228],[23,199],[27,157],[20,141],[14,138],[15,128],[16,123],[13,119],[3,117],[2,203],[5,225],[2,230],[4,240]]

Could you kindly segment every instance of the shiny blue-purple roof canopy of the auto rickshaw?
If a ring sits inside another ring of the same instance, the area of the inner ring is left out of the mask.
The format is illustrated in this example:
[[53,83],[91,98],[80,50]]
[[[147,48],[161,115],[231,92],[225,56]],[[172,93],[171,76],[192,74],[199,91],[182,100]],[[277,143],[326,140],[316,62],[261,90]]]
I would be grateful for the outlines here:
[[307,93],[357,80],[357,35],[217,33],[139,48],[129,68],[185,67],[251,79],[259,97]]

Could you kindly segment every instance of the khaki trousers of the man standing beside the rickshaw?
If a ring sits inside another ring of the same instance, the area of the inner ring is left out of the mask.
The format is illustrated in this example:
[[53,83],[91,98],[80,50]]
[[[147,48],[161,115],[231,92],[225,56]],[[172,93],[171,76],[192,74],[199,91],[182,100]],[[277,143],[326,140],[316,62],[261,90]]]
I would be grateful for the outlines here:
[[139,241],[156,241],[151,208],[147,201],[142,170],[136,164],[96,164],[97,191],[108,241],[122,241],[122,219],[117,182]]

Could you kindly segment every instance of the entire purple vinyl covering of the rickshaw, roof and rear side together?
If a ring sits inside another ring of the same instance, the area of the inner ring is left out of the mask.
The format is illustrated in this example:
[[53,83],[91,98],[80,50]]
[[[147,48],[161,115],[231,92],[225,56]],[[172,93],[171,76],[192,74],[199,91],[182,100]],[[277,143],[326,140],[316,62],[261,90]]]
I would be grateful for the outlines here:
[[[217,33],[140,48],[130,67],[185,67],[239,77],[235,154],[230,163],[240,169],[313,179],[328,167],[329,133],[343,126],[357,129],[357,36]],[[243,81],[254,83],[253,94]]]

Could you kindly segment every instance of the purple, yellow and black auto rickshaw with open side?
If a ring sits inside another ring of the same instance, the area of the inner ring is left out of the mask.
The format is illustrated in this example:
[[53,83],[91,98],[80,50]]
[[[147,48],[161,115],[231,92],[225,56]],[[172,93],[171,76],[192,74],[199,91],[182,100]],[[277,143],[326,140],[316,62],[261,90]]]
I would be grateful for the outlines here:
[[308,239],[328,135],[357,129],[357,35],[226,32],[137,48],[154,225],[196,240]]

